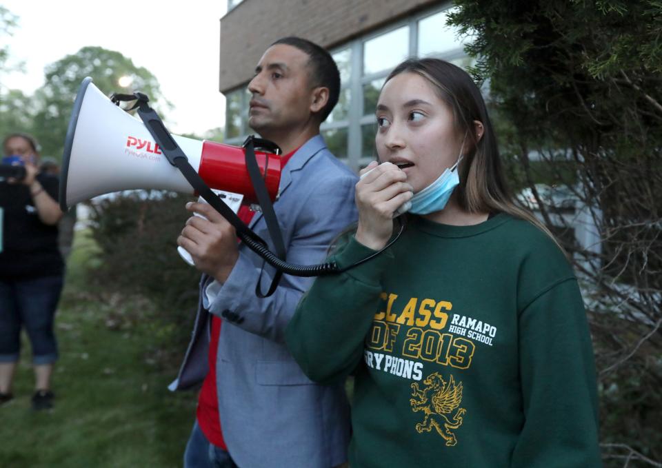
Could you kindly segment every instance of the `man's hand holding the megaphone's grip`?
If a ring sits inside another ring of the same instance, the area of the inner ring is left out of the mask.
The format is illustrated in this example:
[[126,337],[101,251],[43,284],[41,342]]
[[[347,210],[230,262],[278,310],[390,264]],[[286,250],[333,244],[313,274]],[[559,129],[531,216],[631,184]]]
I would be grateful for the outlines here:
[[188,250],[197,269],[225,283],[239,258],[237,233],[219,212],[206,203],[186,203],[191,216],[177,238],[177,244]]

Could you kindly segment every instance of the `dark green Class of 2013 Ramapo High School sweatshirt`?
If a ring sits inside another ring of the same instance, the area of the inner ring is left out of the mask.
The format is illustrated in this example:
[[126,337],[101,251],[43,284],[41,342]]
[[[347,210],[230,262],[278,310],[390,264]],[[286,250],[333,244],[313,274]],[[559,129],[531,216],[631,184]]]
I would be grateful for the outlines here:
[[[334,259],[372,253],[352,238]],[[579,287],[526,221],[410,216],[390,250],[317,278],[286,338],[312,380],[355,373],[352,468],[602,466]]]

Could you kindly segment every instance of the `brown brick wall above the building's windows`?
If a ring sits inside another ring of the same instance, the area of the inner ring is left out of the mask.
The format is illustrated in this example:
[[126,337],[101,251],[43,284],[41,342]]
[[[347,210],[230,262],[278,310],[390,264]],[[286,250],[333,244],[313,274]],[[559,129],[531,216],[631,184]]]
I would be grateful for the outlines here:
[[[223,0],[216,0],[223,1]],[[268,45],[299,36],[332,48],[434,4],[434,0],[244,0],[221,19],[219,90],[250,77]]]

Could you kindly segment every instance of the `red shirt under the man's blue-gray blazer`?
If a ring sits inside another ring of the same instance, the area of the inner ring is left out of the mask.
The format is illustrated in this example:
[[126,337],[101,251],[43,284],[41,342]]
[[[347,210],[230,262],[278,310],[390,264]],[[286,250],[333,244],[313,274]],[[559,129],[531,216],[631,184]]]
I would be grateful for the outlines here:
[[[299,150],[299,148],[297,148]],[[281,169],[290,161],[290,158],[297,150],[281,156]],[[247,205],[241,205],[237,216],[245,224],[250,223],[255,212],[250,210]],[[221,318],[210,314],[212,336],[209,340],[209,372],[202,383],[200,395],[198,396],[197,420],[200,429],[209,442],[223,450],[227,450],[223,440],[223,431],[221,430],[221,417],[219,415],[219,400],[216,389],[216,357],[219,350],[219,337],[221,336]]]

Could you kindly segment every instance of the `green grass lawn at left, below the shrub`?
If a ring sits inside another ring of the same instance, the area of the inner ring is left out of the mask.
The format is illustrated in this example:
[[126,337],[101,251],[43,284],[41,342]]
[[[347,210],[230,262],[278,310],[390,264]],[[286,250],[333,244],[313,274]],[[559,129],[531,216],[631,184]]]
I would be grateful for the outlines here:
[[[23,340],[14,400],[0,407],[0,467],[180,467],[197,394],[166,388],[177,372],[140,302],[86,292],[94,243],[77,233],[56,318],[54,408],[32,411],[30,345]],[[184,349],[170,350],[181,358]],[[175,359],[175,360],[177,360]]]

